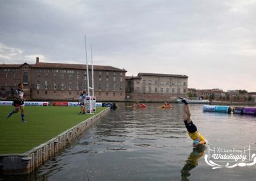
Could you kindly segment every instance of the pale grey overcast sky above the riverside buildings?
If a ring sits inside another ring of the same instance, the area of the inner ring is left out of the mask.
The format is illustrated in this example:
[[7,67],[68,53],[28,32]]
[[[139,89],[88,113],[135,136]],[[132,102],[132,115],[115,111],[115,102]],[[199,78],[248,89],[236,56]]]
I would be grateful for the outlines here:
[[84,35],[94,64],[128,76],[256,92],[256,1],[0,0],[0,63],[85,64]]

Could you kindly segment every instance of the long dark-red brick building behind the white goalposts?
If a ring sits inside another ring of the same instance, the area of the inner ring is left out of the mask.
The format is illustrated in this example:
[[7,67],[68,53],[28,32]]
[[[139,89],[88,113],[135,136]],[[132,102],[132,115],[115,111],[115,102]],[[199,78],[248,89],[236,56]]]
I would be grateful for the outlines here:
[[[90,87],[92,72],[89,66]],[[94,92],[98,101],[125,100],[125,69],[93,66]],[[12,89],[22,82],[28,100],[77,101],[87,91],[86,65],[40,62],[0,64],[0,99],[10,98]]]

